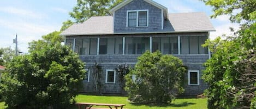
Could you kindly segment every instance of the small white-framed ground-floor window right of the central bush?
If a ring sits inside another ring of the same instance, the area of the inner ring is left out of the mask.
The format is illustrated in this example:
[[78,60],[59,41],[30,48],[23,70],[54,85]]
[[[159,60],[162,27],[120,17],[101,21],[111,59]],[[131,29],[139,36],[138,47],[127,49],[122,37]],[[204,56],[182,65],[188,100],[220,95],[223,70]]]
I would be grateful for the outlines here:
[[199,70],[188,70],[188,85],[199,85]]

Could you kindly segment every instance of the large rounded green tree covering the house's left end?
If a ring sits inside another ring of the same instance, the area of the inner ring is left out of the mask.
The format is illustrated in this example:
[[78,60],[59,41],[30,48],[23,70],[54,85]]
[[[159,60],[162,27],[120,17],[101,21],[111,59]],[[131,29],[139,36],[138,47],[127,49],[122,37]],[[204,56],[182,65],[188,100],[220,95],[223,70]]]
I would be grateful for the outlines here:
[[0,94],[8,108],[69,108],[81,88],[84,63],[56,32],[29,43],[3,74]]

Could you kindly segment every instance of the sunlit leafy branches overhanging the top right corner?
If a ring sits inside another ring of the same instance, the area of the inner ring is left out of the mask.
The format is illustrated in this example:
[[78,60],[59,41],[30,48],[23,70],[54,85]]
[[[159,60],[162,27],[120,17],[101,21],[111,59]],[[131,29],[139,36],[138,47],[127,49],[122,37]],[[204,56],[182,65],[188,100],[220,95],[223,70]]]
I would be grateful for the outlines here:
[[201,0],[206,5],[213,7],[214,14],[211,18],[219,15],[230,15],[231,22],[255,23],[256,1],[255,0]]

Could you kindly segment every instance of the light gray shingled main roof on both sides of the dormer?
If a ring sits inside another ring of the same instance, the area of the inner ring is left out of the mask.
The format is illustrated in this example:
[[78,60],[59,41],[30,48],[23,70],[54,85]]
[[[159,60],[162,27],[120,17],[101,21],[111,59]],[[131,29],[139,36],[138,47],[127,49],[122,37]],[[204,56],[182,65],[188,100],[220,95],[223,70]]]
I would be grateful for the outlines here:
[[[61,35],[107,35],[107,34],[136,34],[114,33],[113,17],[91,17],[84,23],[73,24],[64,30]],[[209,18],[204,12],[169,14],[169,20],[165,20],[164,29],[145,33],[188,33],[215,31]],[[144,33],[141,33],[144,34]]]

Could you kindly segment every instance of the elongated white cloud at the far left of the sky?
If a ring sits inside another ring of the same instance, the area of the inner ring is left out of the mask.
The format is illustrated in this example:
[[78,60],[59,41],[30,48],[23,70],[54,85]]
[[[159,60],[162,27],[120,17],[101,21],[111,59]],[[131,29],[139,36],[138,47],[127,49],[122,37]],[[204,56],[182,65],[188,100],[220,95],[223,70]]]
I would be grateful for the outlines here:
[[23,17],[30,17],[30,18],[45,18],[46,15],[39,14],[38,12],[34,12],[31,10],[21,9],[21,8],[15,8],[15,7],[1,7],[0,11],[6,12],[8,14],[14,14],[14,15],[20,15]]

